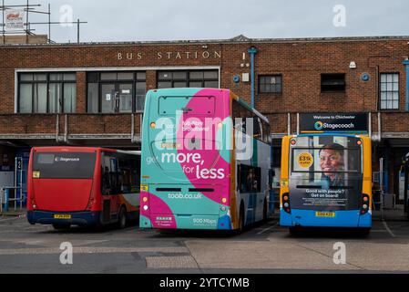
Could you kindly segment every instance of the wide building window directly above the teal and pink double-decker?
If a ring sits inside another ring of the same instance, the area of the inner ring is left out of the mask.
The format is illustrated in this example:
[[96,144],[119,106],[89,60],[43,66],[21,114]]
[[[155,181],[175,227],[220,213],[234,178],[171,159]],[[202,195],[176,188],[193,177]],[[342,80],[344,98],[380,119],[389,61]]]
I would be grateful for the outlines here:
[[158,89],[210,88],[219,89],[219,72],[206,71],[158,71]]

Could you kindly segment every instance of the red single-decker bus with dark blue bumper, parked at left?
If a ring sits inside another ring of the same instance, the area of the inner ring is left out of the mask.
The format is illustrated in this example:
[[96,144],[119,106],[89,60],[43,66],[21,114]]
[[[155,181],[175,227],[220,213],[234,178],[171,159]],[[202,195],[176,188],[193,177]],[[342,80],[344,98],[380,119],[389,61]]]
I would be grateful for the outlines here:
[[91,147],[35,147],[27,175],[30,224],[118,224],[137,219],[140,152]]

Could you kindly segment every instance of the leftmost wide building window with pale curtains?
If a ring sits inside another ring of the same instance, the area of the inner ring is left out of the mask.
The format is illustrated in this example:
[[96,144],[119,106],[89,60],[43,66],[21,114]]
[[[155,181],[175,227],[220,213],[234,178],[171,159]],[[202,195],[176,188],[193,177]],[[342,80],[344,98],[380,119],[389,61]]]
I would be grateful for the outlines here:
[[77,77],[71,73],[19,73],[20,113],[76,112]]

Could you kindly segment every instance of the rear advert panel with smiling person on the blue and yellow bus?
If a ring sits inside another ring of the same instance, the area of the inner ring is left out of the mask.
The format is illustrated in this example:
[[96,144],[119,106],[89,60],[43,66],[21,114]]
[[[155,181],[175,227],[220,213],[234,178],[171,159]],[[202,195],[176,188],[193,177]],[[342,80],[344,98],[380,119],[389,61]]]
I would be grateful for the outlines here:
[[359,138],[298,137],[291,145],[291,208],[359,209],[363,187]]

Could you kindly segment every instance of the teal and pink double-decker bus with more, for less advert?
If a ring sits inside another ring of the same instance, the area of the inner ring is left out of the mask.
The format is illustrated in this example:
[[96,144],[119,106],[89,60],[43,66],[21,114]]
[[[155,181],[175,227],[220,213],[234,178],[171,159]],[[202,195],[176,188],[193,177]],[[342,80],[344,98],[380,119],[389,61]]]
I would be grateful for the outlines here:
[[268,216],[267,118],[229,89],[155,89],[142,123],[141,228],[242,230]]

